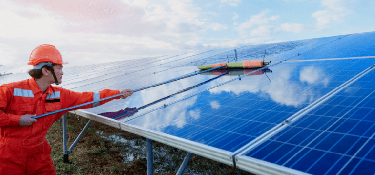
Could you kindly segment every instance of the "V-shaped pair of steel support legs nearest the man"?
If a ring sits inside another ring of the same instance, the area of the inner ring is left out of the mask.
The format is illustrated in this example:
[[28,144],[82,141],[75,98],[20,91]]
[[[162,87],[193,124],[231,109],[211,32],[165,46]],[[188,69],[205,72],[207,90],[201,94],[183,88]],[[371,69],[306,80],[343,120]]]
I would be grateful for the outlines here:
[[90,119],[86,126],[84,126],[83,130],[81,131],[81,133],[78,135],[78,137],[76,138],[76,140],[73,142],[73,144],[70,146],[69,150],[67,149],[67,136],[66,136],[66,123],[67,123],[67,119],[66,119],[66,114],[64,114],[62,116],[62,133],[63,133],[63,146],[64,146],[64,163],[70,163],[69,162],[69,153],[72,153],[73,152],[73,149],[74,147],[77,145],[78,141],[81,139],[83,133],[88,129],[88,127],[91,125],[91,122],[92,120]]

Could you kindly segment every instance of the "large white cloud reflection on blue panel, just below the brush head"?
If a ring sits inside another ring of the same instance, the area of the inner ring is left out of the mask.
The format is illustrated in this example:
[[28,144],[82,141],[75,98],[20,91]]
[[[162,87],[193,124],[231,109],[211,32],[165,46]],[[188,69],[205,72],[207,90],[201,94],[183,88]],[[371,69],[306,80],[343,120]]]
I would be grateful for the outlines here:
[[266,74],[244,77],[241,81],[236,80],[235,83],[210,89],[209,92],[212,94],[228,92],[239,96],[245,93],[254,93],[262,99],[271,99],[280,105],[298,108],[301,104],[316,100],[317,95],[321,94],[319,88],[315,86],[326,87],[330,81],[323,69],[316,66],[303,67],[300,71],[296,70],[297,66],[294,64],[272,66],[271,68],[274,73],[267,74],[271,83],[265,76]]

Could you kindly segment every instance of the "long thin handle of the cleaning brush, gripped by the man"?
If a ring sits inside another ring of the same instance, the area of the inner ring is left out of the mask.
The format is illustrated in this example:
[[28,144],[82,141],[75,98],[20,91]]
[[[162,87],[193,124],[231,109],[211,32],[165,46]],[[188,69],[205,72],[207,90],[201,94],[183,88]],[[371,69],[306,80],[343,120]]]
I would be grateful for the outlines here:
[[[181,79],[184,79],[184,78],[187,78],[187,77],[191,77],[191,76],[194,76],[194,75],[197,75],[197,74],[201,74],[201,73],[208,72],[208,71],[211,71],[211,70],[216,70],[216,69],[219,69],[219,68],[222,68],[222,67],[225,67],[225,66],[227,66],[227,65],[219,66],[219,67],[215,67],[215,68],[211,68],[211,69],[208,69],[208,70],[205,70],[205,71],[198,71],[198,72],[193,73],[193,74],[187,74],[185,76],[174,78],[174,79],[162,82],[162,83],[158,83],[158,84],[151,85],[151,86],[148,86],[148,87],[142,87],[142,88],[133,90],[133,92],[137,92],[137,91],[145,90],[147,88],[151,88],[151,87],[156,87],[156,86],[159,86],[159,85],[167,84],[167,83],[174,82],[174,81],[177,81],[177,80],[181,80]],[[102,98],[102,99],[99,99],[99,100],[95,100],[95,101],[92,101],[92,102],[83,103],[81,105],[77,105],[77,106],[73,106],[73,107],[69,107],[69,108],[60,109],[60,110],[56,110],[56,111],[53,111],[53,112],[45,113],[45,114],[38,115],[38,116],[35,116],[35,117],[32,117],[32,118],[37,119],[37,118],[45,117],[45,116],[48,116],[48,115],[56,114],[56,113],[59,113],[59,112],[63,112],[63,111],[66,111],[66,110],[80,108],[80,107],[83,107],[83,106],[86,106],[86,105],[91,105],[93,103],[97,103],[97,102],[101,102],[101,101],[104,101],[104,100],[116,98],[116,97],[119,97],[121,95],[122,95],[122,93],[117,94],[117,95],[113,95],[113,96],[110,96],[110,97]]]

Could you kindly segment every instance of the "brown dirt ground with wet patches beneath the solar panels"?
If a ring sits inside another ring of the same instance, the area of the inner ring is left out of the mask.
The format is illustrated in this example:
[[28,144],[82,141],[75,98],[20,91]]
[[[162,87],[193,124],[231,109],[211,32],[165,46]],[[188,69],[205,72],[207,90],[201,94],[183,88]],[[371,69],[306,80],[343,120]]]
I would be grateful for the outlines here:
[[[71,113],[67,114],[67,119],[69,148],[88,119]],[[69,154],[70,162],[64,163],[62,136],[61,117],[47,132],[57,175],[147,174],[146,138],[93,121],[73,152]],[[122,138],[123,142],[116,142],[109,138]],[[153,142],[153,150],[155,175],[175,175],[187,154],[185,151],[158,142]],[[253,175],[198,155],[191,157],[184,174]]]

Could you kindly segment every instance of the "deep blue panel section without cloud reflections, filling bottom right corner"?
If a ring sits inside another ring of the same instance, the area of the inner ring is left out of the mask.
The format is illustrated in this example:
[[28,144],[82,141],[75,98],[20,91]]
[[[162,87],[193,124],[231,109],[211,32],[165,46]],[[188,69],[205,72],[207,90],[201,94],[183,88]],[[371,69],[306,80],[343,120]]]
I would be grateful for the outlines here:
[[374,135],[372,70],[246,155],[311,174],[373,175]]

